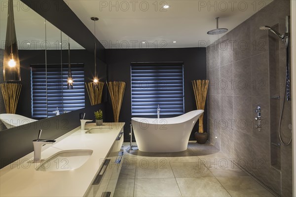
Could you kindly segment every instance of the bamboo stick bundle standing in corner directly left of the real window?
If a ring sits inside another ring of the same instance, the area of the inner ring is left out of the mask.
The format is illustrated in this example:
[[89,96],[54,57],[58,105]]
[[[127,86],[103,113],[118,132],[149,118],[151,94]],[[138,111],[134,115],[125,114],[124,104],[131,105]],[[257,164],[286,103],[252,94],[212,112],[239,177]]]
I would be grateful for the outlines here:
[[125,82],[123,81],[113,81],[107,83],[108,90],[110,93],[114,122],[118,123],[120,108],[122,104],[123,94],[125,90]]

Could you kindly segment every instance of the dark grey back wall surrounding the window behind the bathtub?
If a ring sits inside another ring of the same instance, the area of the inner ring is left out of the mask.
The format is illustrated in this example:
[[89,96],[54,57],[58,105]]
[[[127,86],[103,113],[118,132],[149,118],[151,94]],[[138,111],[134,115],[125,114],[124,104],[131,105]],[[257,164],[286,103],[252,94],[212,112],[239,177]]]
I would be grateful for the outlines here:
[[[206,79],[205,48],[170,48],[170,49],[106,49],[109,81],[124,81],[126,89],[119,115],[119,122],[125,122],[125,141],[129,138],[129,122],[131,121],[131,63],[132,62],[183,62],[185,113],[195,110],[196,104],[191,81]],[[109,101],[107,109],[111,111]],[[113,121],[113,114],[108,113],[108,120]],[[207,112],[205,110],[205,121]],[[207,125],[205,122],[204,125]],[[190,140],[194,140],[194,132],[198,131],[198,123],[192,130]],[[207,131],[207,128],[204,128]]]

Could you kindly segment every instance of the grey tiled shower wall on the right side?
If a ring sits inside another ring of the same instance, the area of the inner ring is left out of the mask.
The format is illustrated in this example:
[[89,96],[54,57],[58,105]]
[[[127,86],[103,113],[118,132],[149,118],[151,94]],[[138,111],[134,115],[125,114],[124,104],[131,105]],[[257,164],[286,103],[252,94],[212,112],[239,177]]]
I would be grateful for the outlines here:
[[[208,124],[212,125],[208,128],[212,144],[237,161],[246,161],[245,169],[279,195],[292,196],[292,146],[275,149],[270,144],[279,141],[277,126],[285,85],[286,52],[280,39],[270,42],[268,31],[259,30],[267,25],[285,32],[286,15],[290,15],[290,1],[274,0],[207,47],[207,79],[212,84],[208,92]],[[223,42],[230,40],[233,48],[224,50]],[[232,89],[224,89],[225,79],[233,80]],[[277,92],[281,100],[270,99]],[[255,127],[257,106],[261,106],[261,131]],[[219,127],[219,122],[229,117],[234,120],[233,130],[221,128],[223,124]],[[285,102],[282,120],[285,142],[292,133],[289,124],[291,102]],[[281,171],[271,166],[271,153],[280,158],[275,163]]]

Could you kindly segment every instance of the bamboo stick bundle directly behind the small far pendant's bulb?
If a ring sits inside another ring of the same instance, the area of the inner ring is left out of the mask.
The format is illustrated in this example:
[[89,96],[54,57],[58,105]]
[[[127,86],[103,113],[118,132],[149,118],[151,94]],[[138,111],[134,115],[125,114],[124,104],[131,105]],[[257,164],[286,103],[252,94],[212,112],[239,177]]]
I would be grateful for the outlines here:
[[104,82],[99,81],[98,88],[95,88],[93,82],[85,83],[91,105],[96,105],[102,102],[104,84]]

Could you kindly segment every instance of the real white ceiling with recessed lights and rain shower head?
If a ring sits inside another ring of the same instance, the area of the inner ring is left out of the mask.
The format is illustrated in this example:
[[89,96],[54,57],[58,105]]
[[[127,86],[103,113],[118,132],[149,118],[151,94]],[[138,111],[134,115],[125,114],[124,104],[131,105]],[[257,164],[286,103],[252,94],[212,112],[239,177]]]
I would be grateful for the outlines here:
[[[99,18],[96,37],[105,48],[204,47],[223,35],[207,34],[216,29],[216,17],[219,27],[230,31],[271,1],[65,0],[92,33],[90,17]],[[163,9],[164,4],[170,7]]]

